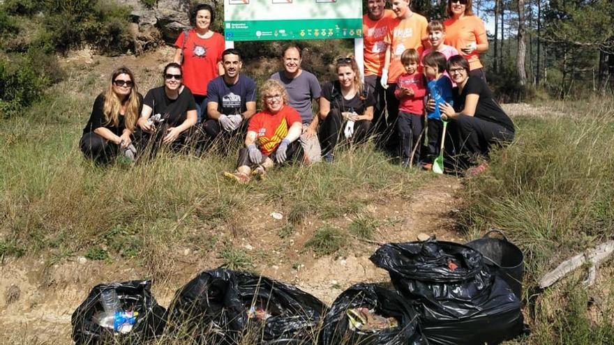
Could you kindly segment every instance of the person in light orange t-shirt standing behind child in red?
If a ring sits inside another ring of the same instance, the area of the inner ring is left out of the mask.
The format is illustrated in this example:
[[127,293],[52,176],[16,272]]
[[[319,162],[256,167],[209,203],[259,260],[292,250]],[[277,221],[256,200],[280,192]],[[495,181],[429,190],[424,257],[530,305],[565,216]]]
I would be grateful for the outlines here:
[[396,119],[398,118],[398,99],[394,96],[396,79],[405,69],[400,62],[400,55],[405,49],[416,49],[421,54],[423,47],[428,47],[426,26],[428,21],[422,15],[413,13],[410,9],[411,0],[392,0],[392,10],[398,21],[388,31],[384,43],[387,45],[384,57],[384,69],[380,84],[386,89],[387,101],[387,148],[391,153],[398,154],[398,135],[396,133]]

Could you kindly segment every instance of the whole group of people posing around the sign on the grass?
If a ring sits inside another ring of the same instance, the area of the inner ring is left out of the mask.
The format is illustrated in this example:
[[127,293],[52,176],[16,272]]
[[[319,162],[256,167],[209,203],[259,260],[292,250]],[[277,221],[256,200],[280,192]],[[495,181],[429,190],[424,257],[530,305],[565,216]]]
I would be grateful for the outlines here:
[[357,61],[342,56],[334,61],[336,79],[321,86],[301,68],[301,49],[287,45],[283,69],[260,87],[260,112],[255,82],[241,75],[240,52],[224,49],[223,36],[210,29],[213,8],[198,5],[193,29],[179,35],[174,62],[163,70],[163,86],[143,98],[128,68],[112,73],[84,128],[82,152],[105,163],[161,145],[204,152],[239,137],[237,169],[225,174],[241,183],[289,160],[333,162],[343,138],[357,144],[373,137],[404,166],[425,169],[444,141],[450,157],[487,157],[491,145],[514,138],[514,124],[486,85],[484,24],[471,0],[448,0],[443,23],[427,22],[410,2],[392,0],[387,10],[385,0],[368,0],[364,82]]

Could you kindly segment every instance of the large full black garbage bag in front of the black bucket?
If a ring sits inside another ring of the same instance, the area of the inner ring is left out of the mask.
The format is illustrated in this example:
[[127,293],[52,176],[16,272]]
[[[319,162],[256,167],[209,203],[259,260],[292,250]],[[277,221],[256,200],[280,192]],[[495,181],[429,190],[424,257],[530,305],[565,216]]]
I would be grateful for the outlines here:
[[457,243],[389,243],[370,260],[415,302],[429,344],[499,344],[523,332],[521,302],[479,252]]

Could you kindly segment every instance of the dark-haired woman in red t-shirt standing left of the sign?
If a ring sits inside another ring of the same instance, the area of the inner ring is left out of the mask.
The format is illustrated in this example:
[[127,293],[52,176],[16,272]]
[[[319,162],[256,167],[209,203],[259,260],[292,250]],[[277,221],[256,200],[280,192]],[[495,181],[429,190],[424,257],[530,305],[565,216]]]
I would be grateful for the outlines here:
[[224,36],[211,30],[215,19],[216,13],[211,6],[206,3],[196,6],[190,16],[193,29],[182,32],[175,41],[174,62],[181,65],[184,85],[194,95],[198,123],[207,117],[207,114],[202,114],[207,112],[207,84],[224,74],[221,61],[225,42]]

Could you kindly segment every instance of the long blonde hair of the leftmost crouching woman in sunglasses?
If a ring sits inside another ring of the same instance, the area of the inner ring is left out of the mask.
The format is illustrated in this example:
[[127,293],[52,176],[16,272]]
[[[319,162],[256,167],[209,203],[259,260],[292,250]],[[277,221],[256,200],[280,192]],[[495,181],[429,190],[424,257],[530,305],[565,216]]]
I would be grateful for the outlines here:
[[136,127],[139,117],[139,96],[137,92],[137,84],[134,79],[133,72],[128,68],[121,66],[117,70],[113,71],[109,82],[109,87],[105,91],[105,106],[103,112],[105,114],[105,125],[119,125],[119,113],[121,112],[121,100],[117,96],[117,93],[113,90],[113,82],[118,75],[128,75],[133,82],[133,86],[130,89],[130,95],[126,99],[126,114],[123,114],[123,122],[126,125],[126,129],[133,131]]

